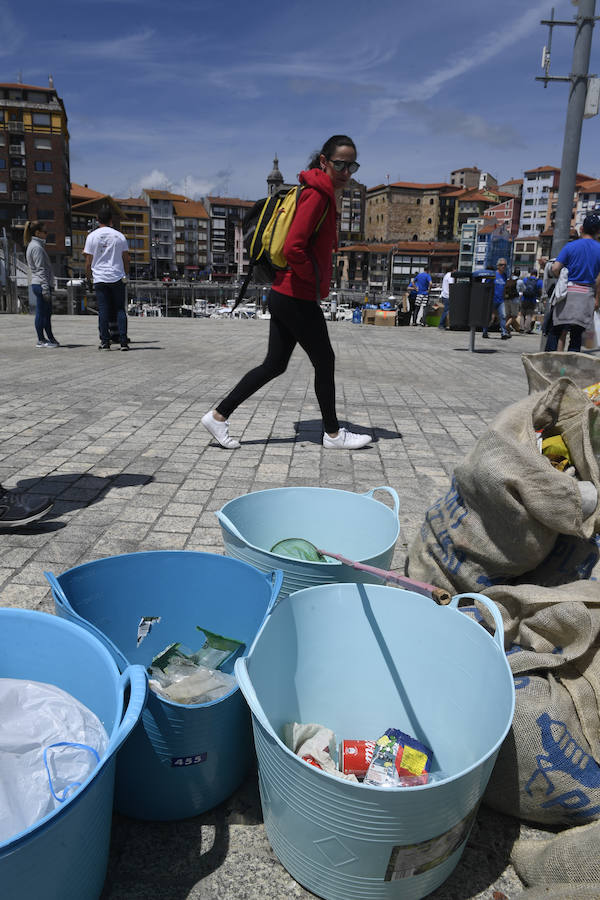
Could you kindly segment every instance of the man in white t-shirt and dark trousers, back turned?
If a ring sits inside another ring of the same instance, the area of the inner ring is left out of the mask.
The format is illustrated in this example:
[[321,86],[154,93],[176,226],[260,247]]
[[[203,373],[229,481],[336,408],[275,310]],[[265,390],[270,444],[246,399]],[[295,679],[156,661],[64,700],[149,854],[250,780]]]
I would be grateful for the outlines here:
[[112,227],[112,210],[102,206],[96,215],[99,227],[88,234],[83,253],[85,274],[94,281],[98,302],[99,350],[110,350],[109,322],[116,320],[121,350],[129,350],[125,281],[129,274],[127,238]]

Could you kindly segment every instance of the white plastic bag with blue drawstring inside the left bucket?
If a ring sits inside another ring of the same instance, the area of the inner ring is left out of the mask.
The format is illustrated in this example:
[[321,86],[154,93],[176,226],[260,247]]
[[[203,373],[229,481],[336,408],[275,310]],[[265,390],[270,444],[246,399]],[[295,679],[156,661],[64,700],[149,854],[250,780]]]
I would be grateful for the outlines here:
[[72,797],[107,745],[98,717],[66,691],[0,678],[0,841]]

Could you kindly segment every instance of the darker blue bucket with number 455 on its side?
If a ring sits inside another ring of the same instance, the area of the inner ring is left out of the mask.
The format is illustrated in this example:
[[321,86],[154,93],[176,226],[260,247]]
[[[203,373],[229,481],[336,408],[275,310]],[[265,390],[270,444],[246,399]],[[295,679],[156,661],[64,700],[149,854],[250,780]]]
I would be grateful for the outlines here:
[[[191,551],[113,556],[58,578],[46,575],[57,613],[95,634],[121,667],[147,667],[174,641],[197,647],[197,625],[243,641],[247,650],[281,584],[281,573],[265,576],[237,560]],[[138,646],[142,616],[161,621]],[[149,691],[141,721],[119,753],[115,805],[134,818],[162,820],[212,809],[244,780],[251,746],[237,687],[194,705]]]

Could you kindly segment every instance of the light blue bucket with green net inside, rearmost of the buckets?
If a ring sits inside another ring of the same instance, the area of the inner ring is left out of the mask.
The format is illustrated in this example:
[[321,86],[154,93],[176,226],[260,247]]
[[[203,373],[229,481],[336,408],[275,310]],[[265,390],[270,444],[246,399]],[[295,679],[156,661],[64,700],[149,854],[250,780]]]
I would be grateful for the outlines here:
[[[394,508],[373,499],[387,491]],[[316,547],[347,559],[389,569],[400,526],[398,494],[377,487],[366,494],[330,488],[290,487],[255,491],[230,500],[216,515],[228,556],[244,560],[262,572],[283,570],[281,596],[338,581],[378,579],[337,561],[306,562],[271,553],[284,538],[305,538]]]

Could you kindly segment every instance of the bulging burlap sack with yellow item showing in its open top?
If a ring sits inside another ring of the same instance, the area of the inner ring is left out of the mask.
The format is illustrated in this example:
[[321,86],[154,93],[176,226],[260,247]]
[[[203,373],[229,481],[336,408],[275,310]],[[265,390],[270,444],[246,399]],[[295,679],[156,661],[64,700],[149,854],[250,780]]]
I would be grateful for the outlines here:
[[[562,434],[579,478],[600,493],[600,407],[560,378],[503,410],[456,467],[450,490],[427,511],[409,549],[409,577],[484,593],[507,581],[589,577],[600,504],[584,519],[576,480],[539,452],[535,432],[549,425]],[[557,546],[560,535],[569,542],[568,559]]]

